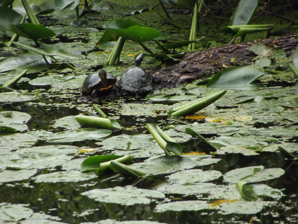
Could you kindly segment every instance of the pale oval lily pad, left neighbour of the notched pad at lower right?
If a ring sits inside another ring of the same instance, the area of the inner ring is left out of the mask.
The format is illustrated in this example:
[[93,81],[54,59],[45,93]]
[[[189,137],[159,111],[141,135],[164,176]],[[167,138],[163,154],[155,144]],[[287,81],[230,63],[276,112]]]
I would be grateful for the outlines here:
[[221,177],[221,172],[216,170],[202,171],[199,169],[184,170],[168,176],[172,182],[188,184],[196,182],[209,182]]

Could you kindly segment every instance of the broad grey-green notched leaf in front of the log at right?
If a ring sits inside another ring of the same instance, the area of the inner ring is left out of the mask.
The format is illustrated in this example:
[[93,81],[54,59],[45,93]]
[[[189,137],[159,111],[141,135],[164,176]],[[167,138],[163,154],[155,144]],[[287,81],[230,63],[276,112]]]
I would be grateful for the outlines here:
[[251,84],[265,75],[263,70],[252,67],[231,67],[215,74],[209,81],[207,87],[216,89],[240,89],[253,90],[259,85]]

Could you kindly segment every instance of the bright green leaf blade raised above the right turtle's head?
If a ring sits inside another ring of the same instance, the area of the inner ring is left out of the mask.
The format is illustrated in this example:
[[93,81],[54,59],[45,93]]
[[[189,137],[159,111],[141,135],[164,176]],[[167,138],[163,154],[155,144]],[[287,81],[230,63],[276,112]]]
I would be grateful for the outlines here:
[[106,30],[135,42],[149,41],[160,36],[160,33],[156,29],[139,25],[128,27],[126,29],[106,28]]

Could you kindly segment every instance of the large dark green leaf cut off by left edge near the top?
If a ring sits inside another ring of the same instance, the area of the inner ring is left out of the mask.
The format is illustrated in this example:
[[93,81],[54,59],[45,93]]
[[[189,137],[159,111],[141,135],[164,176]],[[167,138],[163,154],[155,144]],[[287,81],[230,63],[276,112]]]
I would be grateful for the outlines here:
[[0,32],[10,37],[13,36],[13,32],[10,31],[11,24],[21,23],[23,16],[7,7],[0,6]]

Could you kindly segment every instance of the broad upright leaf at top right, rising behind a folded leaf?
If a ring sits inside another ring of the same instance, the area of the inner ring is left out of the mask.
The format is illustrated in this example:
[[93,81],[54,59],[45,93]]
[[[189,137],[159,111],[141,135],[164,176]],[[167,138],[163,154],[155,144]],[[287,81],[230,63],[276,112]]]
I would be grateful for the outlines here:
[[232,25],[241,25],[249,24],[254,15],[254,10],[258,5],[258,0],[241,0],[237,7],[235,8],[233,15],[230,19],[230,26]]

